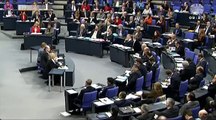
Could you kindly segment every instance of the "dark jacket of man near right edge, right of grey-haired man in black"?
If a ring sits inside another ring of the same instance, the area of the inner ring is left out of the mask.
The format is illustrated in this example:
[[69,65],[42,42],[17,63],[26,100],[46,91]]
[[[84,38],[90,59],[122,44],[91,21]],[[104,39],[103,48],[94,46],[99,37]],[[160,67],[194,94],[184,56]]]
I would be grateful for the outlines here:
[[188,85],[189,91],[192,91],[192,90],[195,90],[195,89],[199,88],[199,84],[203,80],[203,78],[204,78],[203,74],[196,74],[193,79],[189,80],[188,81],[188,83],[189,83],[189,85]]

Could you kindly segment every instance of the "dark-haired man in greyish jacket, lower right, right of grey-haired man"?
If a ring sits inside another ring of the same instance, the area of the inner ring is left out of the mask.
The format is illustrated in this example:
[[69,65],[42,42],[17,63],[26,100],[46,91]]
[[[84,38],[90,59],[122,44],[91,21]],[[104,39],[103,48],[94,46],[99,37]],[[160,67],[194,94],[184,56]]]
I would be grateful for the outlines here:
[[187,110],[191,110],[199,106],[199,101],[196,101],[195,94],[193,92],[189,92],[187,94],[187,103],[185,103],[179,110],[180,115],[185,115]]

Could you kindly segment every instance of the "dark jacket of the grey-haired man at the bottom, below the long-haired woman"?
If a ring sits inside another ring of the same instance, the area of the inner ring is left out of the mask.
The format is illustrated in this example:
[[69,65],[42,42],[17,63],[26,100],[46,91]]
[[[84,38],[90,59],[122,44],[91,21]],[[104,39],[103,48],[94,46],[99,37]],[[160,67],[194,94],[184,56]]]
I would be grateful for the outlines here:
[[166,109],[159,113],[159,115],[164,115],[167,118],[177,117],[178,114],[179,114],[179,108],[177,106],[173,106],[173,108]]

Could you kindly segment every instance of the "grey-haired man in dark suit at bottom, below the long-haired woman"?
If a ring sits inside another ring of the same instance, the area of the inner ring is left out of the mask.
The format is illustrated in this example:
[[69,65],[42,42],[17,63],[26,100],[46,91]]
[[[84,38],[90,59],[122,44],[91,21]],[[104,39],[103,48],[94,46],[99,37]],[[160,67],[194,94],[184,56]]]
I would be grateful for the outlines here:
[[173,118],[177,117],[179,114],[179,108],[178,106],[175,106],[175,100],[172,98],[167,98],[166,100],[166,110],[163,110],[161,112],[156,112],[157,115],[165,116],[167,118]]

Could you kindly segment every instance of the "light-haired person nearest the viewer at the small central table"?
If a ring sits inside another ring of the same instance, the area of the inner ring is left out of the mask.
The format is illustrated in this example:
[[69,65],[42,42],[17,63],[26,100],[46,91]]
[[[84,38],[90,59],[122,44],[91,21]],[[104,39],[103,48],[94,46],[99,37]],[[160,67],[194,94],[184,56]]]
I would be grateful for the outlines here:
[[47,65],[45,67],[45,71],[44,71],[44,78],[48,78],[49,76],[49,72],[53,69],[53,68],[58,68],[60,67],[60,64],[58,63],[58,58],[56,56],[55,53],[49,53],[49,60],[47,62]]

